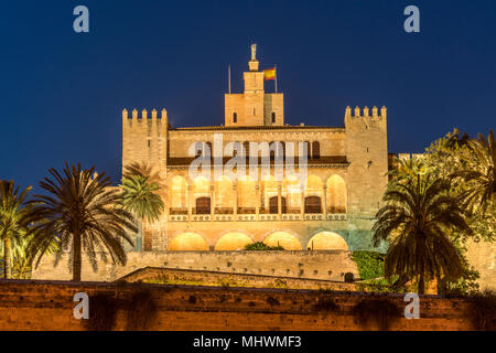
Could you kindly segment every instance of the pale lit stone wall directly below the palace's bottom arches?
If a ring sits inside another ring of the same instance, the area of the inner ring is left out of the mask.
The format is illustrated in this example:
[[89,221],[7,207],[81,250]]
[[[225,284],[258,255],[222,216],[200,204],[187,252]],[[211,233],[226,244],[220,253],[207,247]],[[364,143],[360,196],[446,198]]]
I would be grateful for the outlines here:
[[[126,266],[99,261],[94,272],[87,256],[83,255],[83,280],[114,281],[144,267],[169,267],[237,274],[255,274],[344,281],[351,272],[359,277],[349,252],[132,252]],[[33,279],[68,280],[67,258],[54,267],[53,258],[45,257],[33,270]]]

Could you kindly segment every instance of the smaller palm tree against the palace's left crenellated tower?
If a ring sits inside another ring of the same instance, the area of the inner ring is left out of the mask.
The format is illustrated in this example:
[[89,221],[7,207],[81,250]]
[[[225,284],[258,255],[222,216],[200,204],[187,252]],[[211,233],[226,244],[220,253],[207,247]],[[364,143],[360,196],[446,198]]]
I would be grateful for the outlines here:
[[[122,206],[141,220],[141,231],[144,232],[144,220],[148,222],[158,221],[164,210],[162,197],[157,193],[160,185],[150,182],[143,174],[125,174],[122,179]],[[147,235],[147,234],[144,234]],[[148,250],[151,244],[149,237],[144,236],[144,249]]]

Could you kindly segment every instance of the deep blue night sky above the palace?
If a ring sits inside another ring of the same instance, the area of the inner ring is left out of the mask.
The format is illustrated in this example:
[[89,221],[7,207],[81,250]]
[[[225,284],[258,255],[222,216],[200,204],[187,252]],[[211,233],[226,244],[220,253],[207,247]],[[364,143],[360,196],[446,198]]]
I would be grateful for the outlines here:
[[[73,10],[90,32],[73,31]],[[421,32],[403,31],[420,9]],[[387,106],[389,150],[421,152],[454,127],[495,128],[496,1],[2,1],[1,179],[36,185],[64,161],[116,181],[121,110],[165,107],[174,127],[220,125],[258,44],[278,66],[285,121],[343,126]],[[271,92],[273,84],[267,84]]]

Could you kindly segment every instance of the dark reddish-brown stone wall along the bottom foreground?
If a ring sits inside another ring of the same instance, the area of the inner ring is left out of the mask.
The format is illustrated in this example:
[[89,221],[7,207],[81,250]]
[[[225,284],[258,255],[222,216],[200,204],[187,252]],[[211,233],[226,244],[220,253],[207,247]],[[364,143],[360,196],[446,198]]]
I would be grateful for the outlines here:
[[[155,304],[147,330],[163,331],[345,331],[377,330],[374,320],[358,319],[356,307],[387,299],[397,310],[387,319],[389,330],[472,330],[467,302],[422,297],[420,319],[405,319],[402,296],[322,292],[280,289],[225,289],[157,285],[71,284],[0,280],[0,330],[85,330],[73,317],[74,295],[105,293],[129,302],[132,293],[148,292]],[[98,310],[94,306],[94,310]],[[114,308],[114,307],[112,307]],[[130,307],[117,307],[114,330],[126,330]],[[111,308],[105,308],[106,313]],[[131,317],[132,318],[132,317]],[[129,319],[131,320],[131,319]]]

